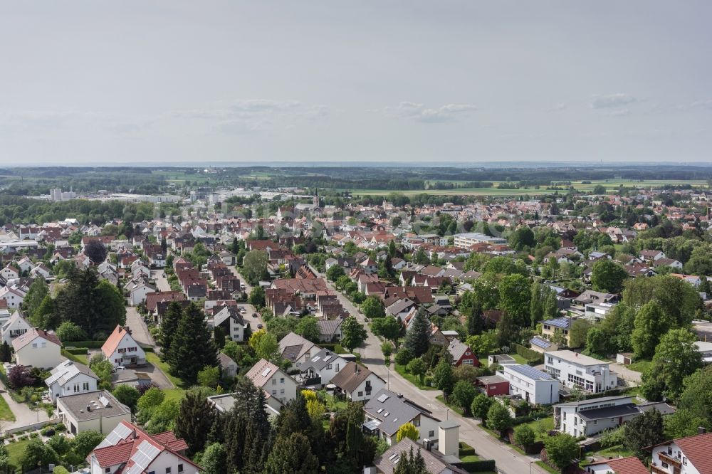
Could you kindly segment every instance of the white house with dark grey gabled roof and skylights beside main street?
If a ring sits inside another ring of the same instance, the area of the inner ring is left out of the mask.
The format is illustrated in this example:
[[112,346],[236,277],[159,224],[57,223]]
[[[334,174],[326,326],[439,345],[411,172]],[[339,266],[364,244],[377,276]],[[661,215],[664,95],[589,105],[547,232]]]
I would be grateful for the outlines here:
[[396,394],[393,391],[382,389],[374,392],[372,399],[363,407],[366,416],[364,429],[379,438],[383,438],[389,446],[396,443],[398,428],[405,423],[412,423],[418,428],[419,439],[436,442],[440,420],[435,418],[431,411],[414,402]]

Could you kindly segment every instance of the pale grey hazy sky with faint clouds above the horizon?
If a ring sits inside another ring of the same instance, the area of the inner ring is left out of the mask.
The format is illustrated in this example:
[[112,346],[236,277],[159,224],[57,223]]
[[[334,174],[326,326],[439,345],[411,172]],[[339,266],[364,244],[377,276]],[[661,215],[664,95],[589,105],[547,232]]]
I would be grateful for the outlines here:
[[708,0],[0,0],[0,165],[712,162]]

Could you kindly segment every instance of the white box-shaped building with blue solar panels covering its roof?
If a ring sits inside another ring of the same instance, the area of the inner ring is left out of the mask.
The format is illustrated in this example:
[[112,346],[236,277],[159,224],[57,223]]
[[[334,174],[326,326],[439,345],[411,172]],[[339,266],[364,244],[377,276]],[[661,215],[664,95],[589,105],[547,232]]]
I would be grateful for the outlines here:
[[521,396],[530,404],[550,405],[559,401],[559,381],[539,369],[511,364],[502,366],[497,375],[509,382],[510,395]]

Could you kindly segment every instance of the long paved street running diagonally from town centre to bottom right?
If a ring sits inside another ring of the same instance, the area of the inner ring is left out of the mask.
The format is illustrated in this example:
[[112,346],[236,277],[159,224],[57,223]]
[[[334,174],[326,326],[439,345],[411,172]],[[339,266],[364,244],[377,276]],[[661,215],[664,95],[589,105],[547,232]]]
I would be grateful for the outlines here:
[[[315,268],[312,268],[315,271]],[[318,275],[325,278],[323,273]],[[325,278],[326,279],[326,278]],[[332,283],[328,283],[336,292],[341,304],[350,314],[354,315],[357,320],[365,323],[365,317],[360,310],[336,290]],[[414,403],[426,407],[433,412],[436,418],[441,420],[454,418],[460,423],[460,441],[468,443],[475,448],[478,455],[486,459],[494,459],[497,463],[497,468],[501,473],[519,474],[529,472],[531,469],[535,473],[545,473],[546,471],[532,464],[538,458],[533,458],[521,455],[504,443],[500,443],[495,438],[490,436],[485,431],[478,428],[478,422],[473,418],[464,418],[459,416],[454,411],[444,406],[436,396],[442,392],[439,390],[420,390],[412,385],[409,381],[400,376],[394,368],[387,368],[384,364],[383,353],[381,352],[381,342],[375,335],[368,331],[368,337],[360,349],[361,361],[368,366],[375,374],[382,377],[388,383],[389,390],[403,394]]]

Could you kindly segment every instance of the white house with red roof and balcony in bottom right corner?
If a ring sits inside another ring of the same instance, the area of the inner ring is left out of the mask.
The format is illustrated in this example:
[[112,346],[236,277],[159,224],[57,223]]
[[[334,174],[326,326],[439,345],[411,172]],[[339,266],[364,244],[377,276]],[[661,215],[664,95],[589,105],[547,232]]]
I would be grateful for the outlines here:
[[653,448],[651,472],[656,474],[712,473],[712,433],[661,443]]

